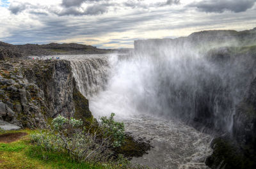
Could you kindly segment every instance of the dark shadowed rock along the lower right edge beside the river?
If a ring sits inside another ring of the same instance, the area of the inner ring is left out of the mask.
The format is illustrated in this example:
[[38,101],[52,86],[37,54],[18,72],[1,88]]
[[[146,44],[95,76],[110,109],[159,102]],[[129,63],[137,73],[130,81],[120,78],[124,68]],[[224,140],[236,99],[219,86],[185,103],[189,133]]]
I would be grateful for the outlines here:
[[236,107],[231,136],[216,138],[206,161],[211,168],[256,168],[256,78]]

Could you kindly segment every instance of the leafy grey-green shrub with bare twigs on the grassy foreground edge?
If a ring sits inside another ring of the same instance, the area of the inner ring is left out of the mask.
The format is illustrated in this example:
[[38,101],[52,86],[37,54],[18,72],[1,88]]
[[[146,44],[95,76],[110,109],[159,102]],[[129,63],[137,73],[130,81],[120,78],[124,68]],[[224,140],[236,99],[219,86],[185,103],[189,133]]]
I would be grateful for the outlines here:
[[89,128],[83,128],[81,120],[58,115],[52,127],[31,138],[42,151],[65,152],[77,161],[108,161],[112,149],[122,145],[125,136],[124,124],[114,121],[114,116],[101,117],[99,125],[93,121]]

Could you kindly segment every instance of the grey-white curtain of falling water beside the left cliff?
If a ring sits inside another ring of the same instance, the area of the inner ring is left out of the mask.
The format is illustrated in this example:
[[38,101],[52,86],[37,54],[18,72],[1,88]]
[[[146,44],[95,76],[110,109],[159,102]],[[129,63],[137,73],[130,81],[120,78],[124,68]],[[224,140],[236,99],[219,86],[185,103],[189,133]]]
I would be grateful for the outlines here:
[[77,87],[86,98],[104,90],[109,77],[109,55],[73,55],[64,59],[70,61]]

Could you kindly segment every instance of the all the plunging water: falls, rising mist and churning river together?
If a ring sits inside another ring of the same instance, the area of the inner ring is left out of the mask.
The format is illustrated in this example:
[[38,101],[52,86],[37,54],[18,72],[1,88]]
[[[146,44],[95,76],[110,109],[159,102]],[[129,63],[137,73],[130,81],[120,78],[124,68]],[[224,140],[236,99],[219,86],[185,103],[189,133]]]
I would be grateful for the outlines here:
[[[227,44],[226,44],[227,45]],[[94,117],[114,112],[136,138],[152,139],[147,155],[132,161],[156,168],[207,168],[211,136],[232,129],[234,109],[256,76],[255,59],[232,47],[191,43],[136,45],[136,54],[66,57]],[[202,50],[203,49],[203,50]]]

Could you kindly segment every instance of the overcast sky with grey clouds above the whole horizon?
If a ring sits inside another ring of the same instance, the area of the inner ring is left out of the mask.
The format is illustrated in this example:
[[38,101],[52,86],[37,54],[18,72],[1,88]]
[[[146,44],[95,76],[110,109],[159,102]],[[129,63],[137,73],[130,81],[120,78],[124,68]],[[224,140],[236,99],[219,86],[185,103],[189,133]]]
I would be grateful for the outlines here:
[[256,0],[0,0],[0,41],[133,48],[134,40],[256,27]]

